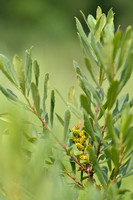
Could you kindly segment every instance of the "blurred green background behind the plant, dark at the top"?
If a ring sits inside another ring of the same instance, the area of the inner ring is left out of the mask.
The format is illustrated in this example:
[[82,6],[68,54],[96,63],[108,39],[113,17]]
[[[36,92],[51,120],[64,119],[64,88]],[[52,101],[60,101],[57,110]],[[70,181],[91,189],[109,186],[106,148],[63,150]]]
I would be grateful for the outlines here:
[[[34,46],[33,59],[38,60],[41,68],[40,89],[45,73],[49,72],[51,88],[58,88],[66,99],[71,85],[78,91],[73,60],[84,70],[74,16],[79,18],[87,32],[80,10],[86,16],[95,16],[98,5],[105,13],[113,8],[116,28],[120,24],[125,30],[128,25],[133,25],[133,0],[0,0],[0,53],[12,62],[14,54],[24,58],[25,50]],[[2,75],[0,81],[10,88]],[[131,84],[132,79],[128,88],[132,96]],[[7,103],[0,94],[1,112],[7,110]],[[62,114],[62,108],[58,100],[56,109],[59,114]],[[132,188],[132,179],[125,184]]]

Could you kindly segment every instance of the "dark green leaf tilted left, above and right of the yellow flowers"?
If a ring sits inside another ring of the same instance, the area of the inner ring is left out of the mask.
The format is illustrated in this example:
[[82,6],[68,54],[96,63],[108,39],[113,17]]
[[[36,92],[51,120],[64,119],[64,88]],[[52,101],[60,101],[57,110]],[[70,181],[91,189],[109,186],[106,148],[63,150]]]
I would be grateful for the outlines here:
[[92,117],[92,119],[94,119],[94,115],[93,115],[93,112],[91,110],[89,100],[83,94],[80,95],[80,103],[81,103],[81,107],[84,108],[84,110],[88,113],[88,115],[90,115]]

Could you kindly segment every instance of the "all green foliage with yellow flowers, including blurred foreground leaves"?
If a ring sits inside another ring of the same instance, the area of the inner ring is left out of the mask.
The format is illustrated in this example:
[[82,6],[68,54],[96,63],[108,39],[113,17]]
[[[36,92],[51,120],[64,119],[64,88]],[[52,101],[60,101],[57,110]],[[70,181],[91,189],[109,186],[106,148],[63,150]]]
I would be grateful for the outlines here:
[[[106,16],[98,7],[96,19],[91,15],[86,19],[83,13],[82,16],[89,34],[86,35],[77,18],[76,25],[92,82],[74,61],[82,89],[79,104],[73,86],[69,90],[68,102],[55,89],[67,107],[64,119],[55,112],[53,89],[48,112],[49,74],[44,77],[41,95],[38,87],[40,70],[37,61],[32,62],[32,48],[26,51],[25,66],[18,56],[14,56],[15,72],[8,59],[0,57],[1,71],[17,86],[26,103],[2,85],[1,92],[9,100],[28,107],[41,122],[41,131],[32,118],[30,122],[20,120],[17,123],[19,118],[13,116],[11,125],[7,125],[8,138],[1,147],[4,156],[0,157],[0,172],[3,172],[1,199],[44,199],[44,195],[51,199],[52,192],[56,193],[54,199],[132,198],[132,192],[123,188],[121,183],[125,177],[133,175],[133,100],[128,93],[121,95],[121,90],[133,69],[133,32],[131,27],[126,29],[123,37],[121,31],[115,32],[112,9]],[[32,68],[35,82],[32,80]],[[75,122],[71,120],[72,113],[76,116]],[[6,115],[3,118],[1,114],[0,120],[6,121]],[[56,135],[57,120],[63,126],[62,139]],[[30,131],[26,131],[27,124],[32,127]],[[46,185],[50,187],[48,192],[44,191]],[[62,193],[59,192],[61,190]]]

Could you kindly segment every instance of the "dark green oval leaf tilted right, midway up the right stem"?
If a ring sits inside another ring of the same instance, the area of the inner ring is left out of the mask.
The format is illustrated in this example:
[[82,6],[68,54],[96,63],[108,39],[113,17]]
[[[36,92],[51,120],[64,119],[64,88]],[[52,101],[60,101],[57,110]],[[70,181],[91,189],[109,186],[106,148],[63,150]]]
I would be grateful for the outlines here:
[[108,105],[108,110],[112,108],[114,105],[117,95],[118,95],[118,90],[119,90],[119,82],[118,81],[113,81],[108,89],[107,93],[107,105]]

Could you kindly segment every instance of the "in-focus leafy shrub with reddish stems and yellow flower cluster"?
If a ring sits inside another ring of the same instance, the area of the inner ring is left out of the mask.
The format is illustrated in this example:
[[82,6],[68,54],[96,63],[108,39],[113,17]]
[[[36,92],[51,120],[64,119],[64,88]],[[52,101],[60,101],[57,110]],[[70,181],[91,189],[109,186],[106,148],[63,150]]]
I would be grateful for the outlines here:
[[[115,29],[112,9],[106,16],[98,7],[96,18],[92,15],[88,15],[86,18],[82,12],[81,14],[88,26],[89,33],[84,32],[77,18],[76,26],[89,78],[84,75],[78,63],[74,61],[77,79],[82,89],[79,107],[75,103],[74,87],[71,87],[68,102],[65,102],[67,109],[64,111],[64,118],[55,111],[55,92],[63,99],[57,89],[51,91],[50,112],[47,111],[49,74],[45,75],[44,93],[41,97],[38,88],[39,64],[36,60],[32,61],[32,48],[26,51],[25,64],[19,56],[15,55],[13,66],[11,66],[8,59],[4,55],[0,55],[0,69],[15,87],[15,90],[11,91],[0,85],[0,90],[10,101],[31,111],[42,124],[41,133],[33,137],[32,134],[28,135],[23,131],[24,134],[21,138],[21,140],[27,140],[28,144],[34,143],[37,148],[40,148],[38,151],[40,158],[35,157],[37,161],[32,159],[34,152],[29,153],[29,149],[26,147],[22,153],[30,155],[26,165],[31,167],[29,169],[31,171],[33,168],[33,171],[36,171],[39,159],[41,164],[37,171],[38,177],[40,177],[37,179],[38,182],[39,180],[41,182],[44,176],[42,171],[45,171],[46,176],[51,167],[58,163],[57,171],[63,179],[62,184],[64,187],[68,184],[69,187],[71,183],[72,193],[75,194],[73,199],[92,199],[92,197],[101,200],[132,199],[132,191],[123,188],[122,182],[126,177],[133,175],[133,115],[131,112],[133,99],[129,98],[128,93],[121,94],[133,69],[132,28],[127,27],[124,33],[119,27]],[[25,101],[22,102],[15,94],[16,89],[23,95]],[[72,113],[76,116],[73,127],[70,126]],[[57,122],[55,119],[63,126],[62,139],[54,134],[54,124]],[[57,145],[55,143],[53,146],[50,145],[48,155],[43,157],[43,144],[49,140],[48,135],[51,135]],[[23,146],[22,149],[24,149]],[[55,152],[60,149],[63,150],[61,151],[62,156],[57,158]],[[34,162],[31,162],[33,160]],[[50,171],[50,173],[52,172]],[[27,179],[28,176],[29,174],[27,174]],[[6,188],[4,181],[1,182],[1,188],[4,188],[4,198],[13,199],[8,191],[11,188]],[[70,190],[71,188],[68,189],[68,191]],[[43,194],[41,190],[40,193]],[[68,192],[68,198],[71,197],[69,195]],[[28,199],[27,196],[25,199]],[[31,196],[29,199],[35,198]],[[60,197],[63,198],[63,196]],[[19,196],[17,199],[21,199],[21,197]],[[64,196],[64,199],[67,197]]]

